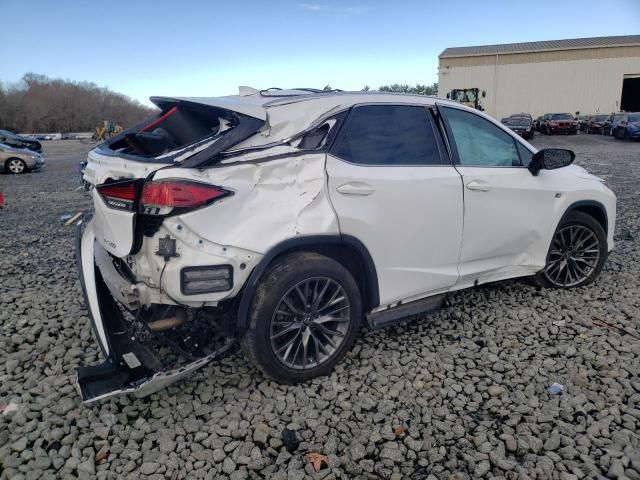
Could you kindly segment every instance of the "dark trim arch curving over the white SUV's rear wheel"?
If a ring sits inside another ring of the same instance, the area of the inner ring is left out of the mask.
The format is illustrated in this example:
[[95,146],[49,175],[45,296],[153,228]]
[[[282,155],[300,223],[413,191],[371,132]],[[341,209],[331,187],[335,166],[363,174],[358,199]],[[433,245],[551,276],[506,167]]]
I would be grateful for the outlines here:
[[236,330],[242,334],[249,326],[251,299],[260,279],[275,260],[294,252],[315,252],[342,264],[353,275],[360,294],[363,310],[369,311],[380,304],[378,274],[367,247],[351,235],[305,235],[290,238],[272,247],[253,269],[239,294]]

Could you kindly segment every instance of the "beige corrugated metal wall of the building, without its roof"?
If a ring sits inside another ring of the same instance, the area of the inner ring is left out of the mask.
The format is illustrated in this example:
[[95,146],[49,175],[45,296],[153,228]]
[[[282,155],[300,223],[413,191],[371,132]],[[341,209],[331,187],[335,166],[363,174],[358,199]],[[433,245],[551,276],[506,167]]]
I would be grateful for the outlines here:
[[[620,108],[624,75],[640,74],[640,48],[633,48],[620,49],[620,57],[616,48],[603,49],[606,52],[589,55],[601,58],[586,59],[580,50],[548,52],[546,58],[541,52],[533,63],[520,63],[531,54],[501,55],[497,64],[495,56],[443,58],[438,93],[445,97],[453,88],[485,90],[482,104],[497,119],[518,112],[534,117],[548,112],[610,113]],[[570,53],[582,59],[568,60]]]

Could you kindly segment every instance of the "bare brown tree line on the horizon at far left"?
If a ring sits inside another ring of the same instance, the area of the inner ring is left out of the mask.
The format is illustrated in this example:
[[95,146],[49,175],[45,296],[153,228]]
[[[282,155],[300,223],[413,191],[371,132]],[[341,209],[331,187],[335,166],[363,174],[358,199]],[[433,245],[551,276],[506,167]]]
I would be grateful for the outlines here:
[[0,84],[0,128],[14,132],[86,132],[104,120],[127,128],[153,112],[91,82],[27,73],[18,83]]

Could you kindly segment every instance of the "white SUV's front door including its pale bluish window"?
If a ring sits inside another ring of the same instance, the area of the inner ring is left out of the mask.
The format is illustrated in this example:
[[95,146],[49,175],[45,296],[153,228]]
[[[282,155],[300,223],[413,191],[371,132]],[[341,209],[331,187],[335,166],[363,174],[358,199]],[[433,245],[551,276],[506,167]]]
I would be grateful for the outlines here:
[[526,168],[532,152],[481,115],[439,107],[464,184],[458,287],[534,274],[544,267],[556,182]]

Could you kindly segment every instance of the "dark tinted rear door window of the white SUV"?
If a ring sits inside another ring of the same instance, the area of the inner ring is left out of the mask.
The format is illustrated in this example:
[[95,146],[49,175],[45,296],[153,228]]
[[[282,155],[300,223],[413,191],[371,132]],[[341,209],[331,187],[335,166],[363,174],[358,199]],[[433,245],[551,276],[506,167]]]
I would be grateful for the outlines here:
[[425,107],[365,105],[352,110],[331,153],[360,165],[440,165]]

